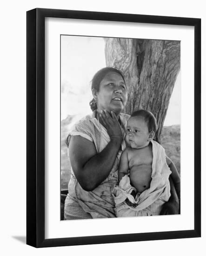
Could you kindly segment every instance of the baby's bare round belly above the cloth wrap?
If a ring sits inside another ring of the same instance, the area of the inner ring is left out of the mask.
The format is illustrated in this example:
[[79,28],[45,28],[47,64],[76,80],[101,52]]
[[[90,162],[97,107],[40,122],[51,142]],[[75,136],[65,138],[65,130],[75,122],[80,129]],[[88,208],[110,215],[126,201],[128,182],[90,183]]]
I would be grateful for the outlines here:
[[142,193],[150,187],[152,168],[151,165],[138,165],[130,169],[131,185]]

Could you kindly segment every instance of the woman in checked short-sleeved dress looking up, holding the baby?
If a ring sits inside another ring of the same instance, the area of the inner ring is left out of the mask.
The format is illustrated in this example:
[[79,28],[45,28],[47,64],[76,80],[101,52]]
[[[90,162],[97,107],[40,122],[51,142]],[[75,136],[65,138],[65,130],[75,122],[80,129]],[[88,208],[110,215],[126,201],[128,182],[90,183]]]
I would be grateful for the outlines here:
[[[67,137],[72,166],[65,219],[115,217],[112,190],[117,182],[120,155],[126,148],[124,135],[129,115],[124,76],[112,67],[100,69],[92,81],[92,115],[75,124]],[[164,214],[178,212],[173,184]]]

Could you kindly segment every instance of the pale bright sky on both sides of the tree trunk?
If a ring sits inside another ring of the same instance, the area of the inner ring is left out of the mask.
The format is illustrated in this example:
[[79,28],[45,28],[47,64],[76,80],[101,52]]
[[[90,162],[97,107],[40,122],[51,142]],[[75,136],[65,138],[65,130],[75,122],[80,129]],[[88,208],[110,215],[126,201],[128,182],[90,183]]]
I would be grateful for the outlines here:
[[[93,75],[106,67],[101,37],[61,36],[61,120],[88,115]],[[170,99],[164,126],[180,124],[180,74]]]

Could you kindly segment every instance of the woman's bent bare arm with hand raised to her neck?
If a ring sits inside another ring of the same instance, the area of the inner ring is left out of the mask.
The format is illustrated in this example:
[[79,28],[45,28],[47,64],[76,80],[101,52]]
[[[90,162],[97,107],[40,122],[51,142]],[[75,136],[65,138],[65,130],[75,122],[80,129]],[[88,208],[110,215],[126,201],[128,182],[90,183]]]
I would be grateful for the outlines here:
[[87,191],[95,189],[109,175],[123,140],[116,116],[111,117],[106,113],[103,114],[102,119],[110,136],[110,142],[99,154],[93,142],[81,136],[72,136],[69,143],[73,172],[80,186]]

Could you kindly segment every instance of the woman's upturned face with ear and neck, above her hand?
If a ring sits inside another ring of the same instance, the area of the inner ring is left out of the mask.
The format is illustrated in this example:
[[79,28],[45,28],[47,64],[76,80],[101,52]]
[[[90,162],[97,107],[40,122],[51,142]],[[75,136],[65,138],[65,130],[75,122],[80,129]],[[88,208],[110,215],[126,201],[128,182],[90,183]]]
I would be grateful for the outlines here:
[[125,108],[127,101],[126,85],[120,74],[110,72],[100,82],[99,92],[93,90],[97,110],[114,111],[116,115]]

